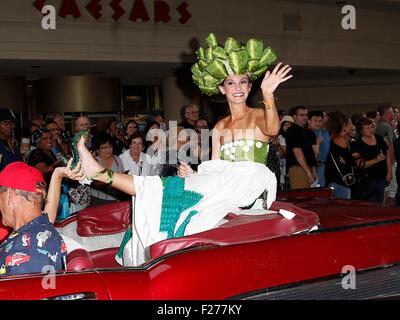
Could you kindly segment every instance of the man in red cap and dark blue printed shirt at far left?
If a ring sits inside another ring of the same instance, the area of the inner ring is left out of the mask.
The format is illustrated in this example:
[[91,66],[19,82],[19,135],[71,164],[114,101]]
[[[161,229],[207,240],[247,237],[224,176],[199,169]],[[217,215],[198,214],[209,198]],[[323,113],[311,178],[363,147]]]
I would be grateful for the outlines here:
[[18,161],[0,172],[2,223],[14,230],[0,246],[0,276],[65,269],[66,247],[42,212],[45,198],[36,168]]

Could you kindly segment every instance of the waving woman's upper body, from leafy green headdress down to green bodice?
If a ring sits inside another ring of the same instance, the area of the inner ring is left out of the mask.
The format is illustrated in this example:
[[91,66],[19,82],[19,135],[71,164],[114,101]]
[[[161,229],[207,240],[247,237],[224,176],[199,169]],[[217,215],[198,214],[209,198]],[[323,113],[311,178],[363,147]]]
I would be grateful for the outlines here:
[[[265,163],[269,136],[279,131],[279,117],[274,91],[281,82],[292,77],[291,67],[279,63],[267,71],[261,83],[264,108],[250,108],[246,104],[251,81],[262,75],[276,59],[275,52],[258,39],[250,39],[242,46],[228,38],[224,48],[218,46],[213,34],[207,39],[208,48],[197,51],[198,63],[192,67],[193,80],[206,94],[221,92],[226,96],[230,115],[219,121],[213,130],[212,160],[255,161]],[[179,175],[186,177],[193,171],[186,164]]]

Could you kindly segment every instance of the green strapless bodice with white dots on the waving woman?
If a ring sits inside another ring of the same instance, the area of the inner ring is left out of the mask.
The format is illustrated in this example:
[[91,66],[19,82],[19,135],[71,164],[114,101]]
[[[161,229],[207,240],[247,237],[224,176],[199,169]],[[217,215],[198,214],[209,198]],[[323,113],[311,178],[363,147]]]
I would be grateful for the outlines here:
[[238,139],[221,146],[220,158],[228,161],[254,161],[266,164],[268,149],[268,142]]

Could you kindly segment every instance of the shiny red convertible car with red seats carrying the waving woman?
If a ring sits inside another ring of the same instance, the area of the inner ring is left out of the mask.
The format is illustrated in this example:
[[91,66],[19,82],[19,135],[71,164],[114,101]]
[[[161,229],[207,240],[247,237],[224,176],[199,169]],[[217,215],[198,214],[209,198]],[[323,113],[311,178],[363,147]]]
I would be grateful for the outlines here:
[[[330,189],[278,195],[271,210],[229,213],[202,233],[114,256],[130,202],[91,207],[56,227],[83,245],[54,285],[40,274],[0,278],[0,299],[375,299],[400,295],[400,209],[332,199]],[[295,216],[290,216],[294,213]],[[68,247],[68,245],[67,245]]]

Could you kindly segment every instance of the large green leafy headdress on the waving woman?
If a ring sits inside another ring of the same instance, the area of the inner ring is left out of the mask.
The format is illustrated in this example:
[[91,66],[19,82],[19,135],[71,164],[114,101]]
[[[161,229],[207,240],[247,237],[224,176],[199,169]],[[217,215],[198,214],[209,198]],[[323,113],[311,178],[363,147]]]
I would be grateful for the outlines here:
[[276,52],[270,47],[264,49],[259,39],[249,39],[244,46],[229,37],[222,48],[215,35],[210,33],[206,42],[208,48],[197,50],[199,61],[191,70],[196,85],[208,95],[217,94],[219,84],[232,74],[247,74],[254,81],[277,58]]

